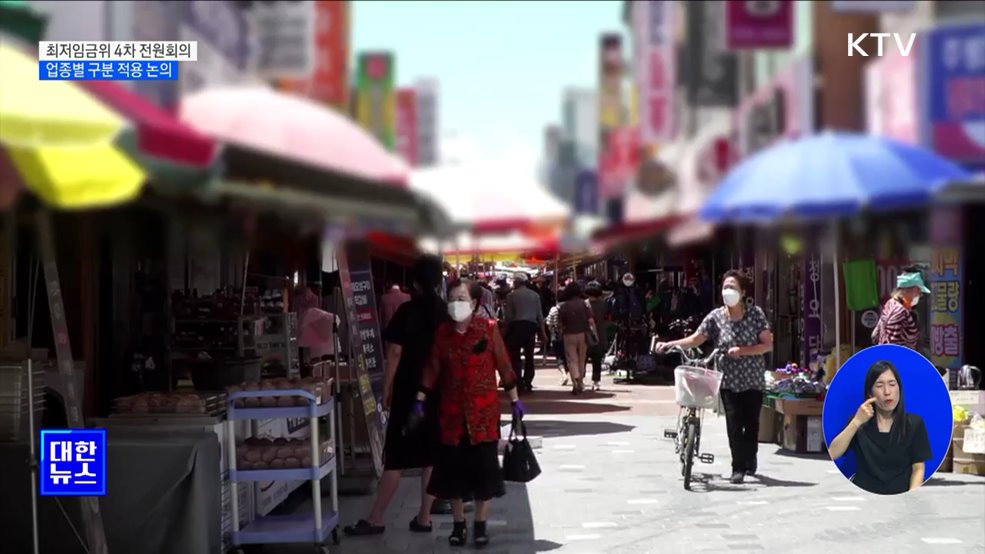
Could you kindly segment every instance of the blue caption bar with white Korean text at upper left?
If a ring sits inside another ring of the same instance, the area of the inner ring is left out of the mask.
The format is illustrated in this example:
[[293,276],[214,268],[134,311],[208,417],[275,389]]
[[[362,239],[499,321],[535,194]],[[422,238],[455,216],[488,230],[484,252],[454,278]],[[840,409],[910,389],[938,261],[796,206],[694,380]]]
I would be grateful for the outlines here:
[[178,62],[41,60],[38,78],[42,81],[177,81]]

